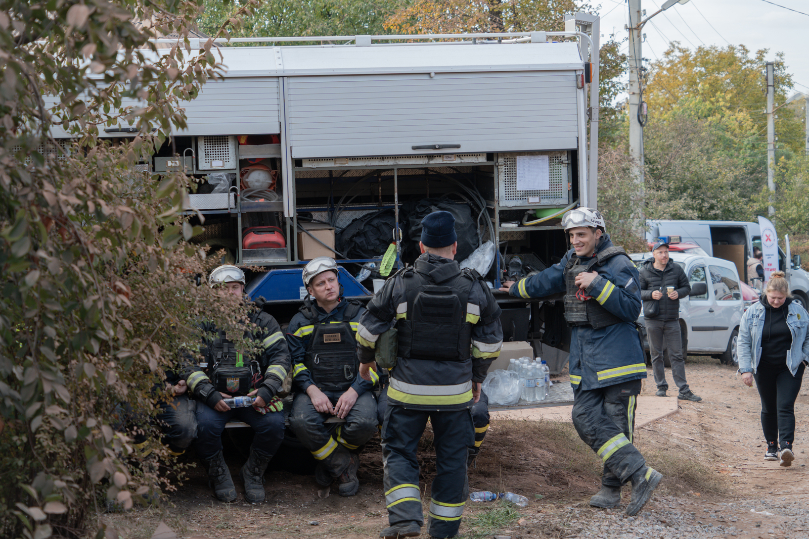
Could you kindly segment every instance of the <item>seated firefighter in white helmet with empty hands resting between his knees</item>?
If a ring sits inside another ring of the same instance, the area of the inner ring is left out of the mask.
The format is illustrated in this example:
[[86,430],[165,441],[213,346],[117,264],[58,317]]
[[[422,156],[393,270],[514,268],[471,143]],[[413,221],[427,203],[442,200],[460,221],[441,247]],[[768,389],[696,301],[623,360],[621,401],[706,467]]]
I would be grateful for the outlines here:
[[[315,478],[341,496],[357,494],[359,451],[376,432],[374,384],[359,376],[357,321],[365,308],[342,297],[337,263],[328,256],[303,268],[304,301],[286,329],[294,365],[290,427],[318,461]],[[345,423],[324,423],[329,417]]]

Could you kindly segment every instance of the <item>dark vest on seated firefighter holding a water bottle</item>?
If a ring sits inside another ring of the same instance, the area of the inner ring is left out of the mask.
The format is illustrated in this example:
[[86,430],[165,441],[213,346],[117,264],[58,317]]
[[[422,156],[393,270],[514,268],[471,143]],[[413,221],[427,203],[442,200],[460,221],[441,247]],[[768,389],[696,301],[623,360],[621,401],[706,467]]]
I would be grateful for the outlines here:
[[206,372],[217,391],[246,395],[261,381],[258,362],[248,360],[244,364],[244,357],[227,340],[224,331],[218,332],[210,348],[201,348],[200,352],[208,362]]

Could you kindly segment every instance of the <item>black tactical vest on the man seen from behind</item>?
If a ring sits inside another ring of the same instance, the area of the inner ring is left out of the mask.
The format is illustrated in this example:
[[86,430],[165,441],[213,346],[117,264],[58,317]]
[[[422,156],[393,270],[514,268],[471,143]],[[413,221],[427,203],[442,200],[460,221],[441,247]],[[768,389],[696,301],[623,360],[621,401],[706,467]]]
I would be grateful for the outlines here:
[[417,259],[402,272],[407,316],[396,322],[402,358],[464,361],[472,354],[472,324],[466,321],[469,292],[477,281],[457,264]]

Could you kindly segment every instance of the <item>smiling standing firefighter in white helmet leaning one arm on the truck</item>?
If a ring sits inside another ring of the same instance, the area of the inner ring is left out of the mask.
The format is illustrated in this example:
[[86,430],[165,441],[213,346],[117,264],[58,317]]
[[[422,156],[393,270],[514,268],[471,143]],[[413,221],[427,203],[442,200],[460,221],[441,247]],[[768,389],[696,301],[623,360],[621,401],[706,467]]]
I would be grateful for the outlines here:
[[621,503],[621,486],[631,481],[626,512],[636,515],[663,477],[646,467],[632,444],[635,402],[646,378],[646,357],[634,324],[641,312],[637,269],[623,249],[612,246],[598,211],[570,210],[561,224],[573,246],[561,262],[506,281],[501,289],[524,298],[565,293],[565,320],[572,326],[573,424],[604,461],[601,490],[590,504],[615,507]]

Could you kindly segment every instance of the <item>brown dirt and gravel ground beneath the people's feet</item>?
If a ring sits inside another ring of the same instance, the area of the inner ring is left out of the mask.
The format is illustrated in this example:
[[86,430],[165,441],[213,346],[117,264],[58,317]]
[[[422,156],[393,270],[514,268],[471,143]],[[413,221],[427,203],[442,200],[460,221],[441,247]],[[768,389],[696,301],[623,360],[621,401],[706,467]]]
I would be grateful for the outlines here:
[[[707,530],[699,537],[809,537],[809,527],[803,531],[801,524],[806,519],[795,520],[777,510],[767,511],[772,516],[761,512],[778,503],[809,507],[809,461],[804,453],[809,447],[809,382],[804,382],[796,403],[796,458],[790,468],[782,468],[777,461],[763,458],[756,390],[741,383],[735,368],[719,365],[718,360],[698,361],[687,364],[687,376],[702,402],[680,401],[678,413],[636,431],[635,444],[665,475],[637,520],[623,516],[624,504],[606,511],[587,505],[598,490],[600,465],[570,423],[501,420],[492,422],[481,456],[470,469],[470,489],[514,491],[531,502],[517,508],[517,513],[505,506],[468,503],[461,526],[463,537],[636,537],[626,535],[633,530],[642,530],[642,537],[690,537],[676,531],[686,524],[689,530],[699,526]],[[654,383],[647,380],[643,394],[654,394],[654,389]],[[241,491],[238,473],[244,457],[239,452],[244,447],[239,447],[239,440],[235,442],[226,451]],[[379,438],[371,440],[363,453],[360,491],[351,498],[337,496],[333,488],[331,495],[321,498],[314,477],[307,474],[311,470],[307,455],[298,450],[286,457],[286,470],[268,472],[267,501],[259,506],[241,499],[218,503],[197,466],[163,507],[107,513],[101,518],[124,539],[152,537],[161,520],[176,537],[210,539],[353,539],[378,537],[379,530],[388,525]],[[422,499],[429,500],[435,470],[429,432],[422,439],[420,463]],[[626,503],[629,488],[624,495]]]

